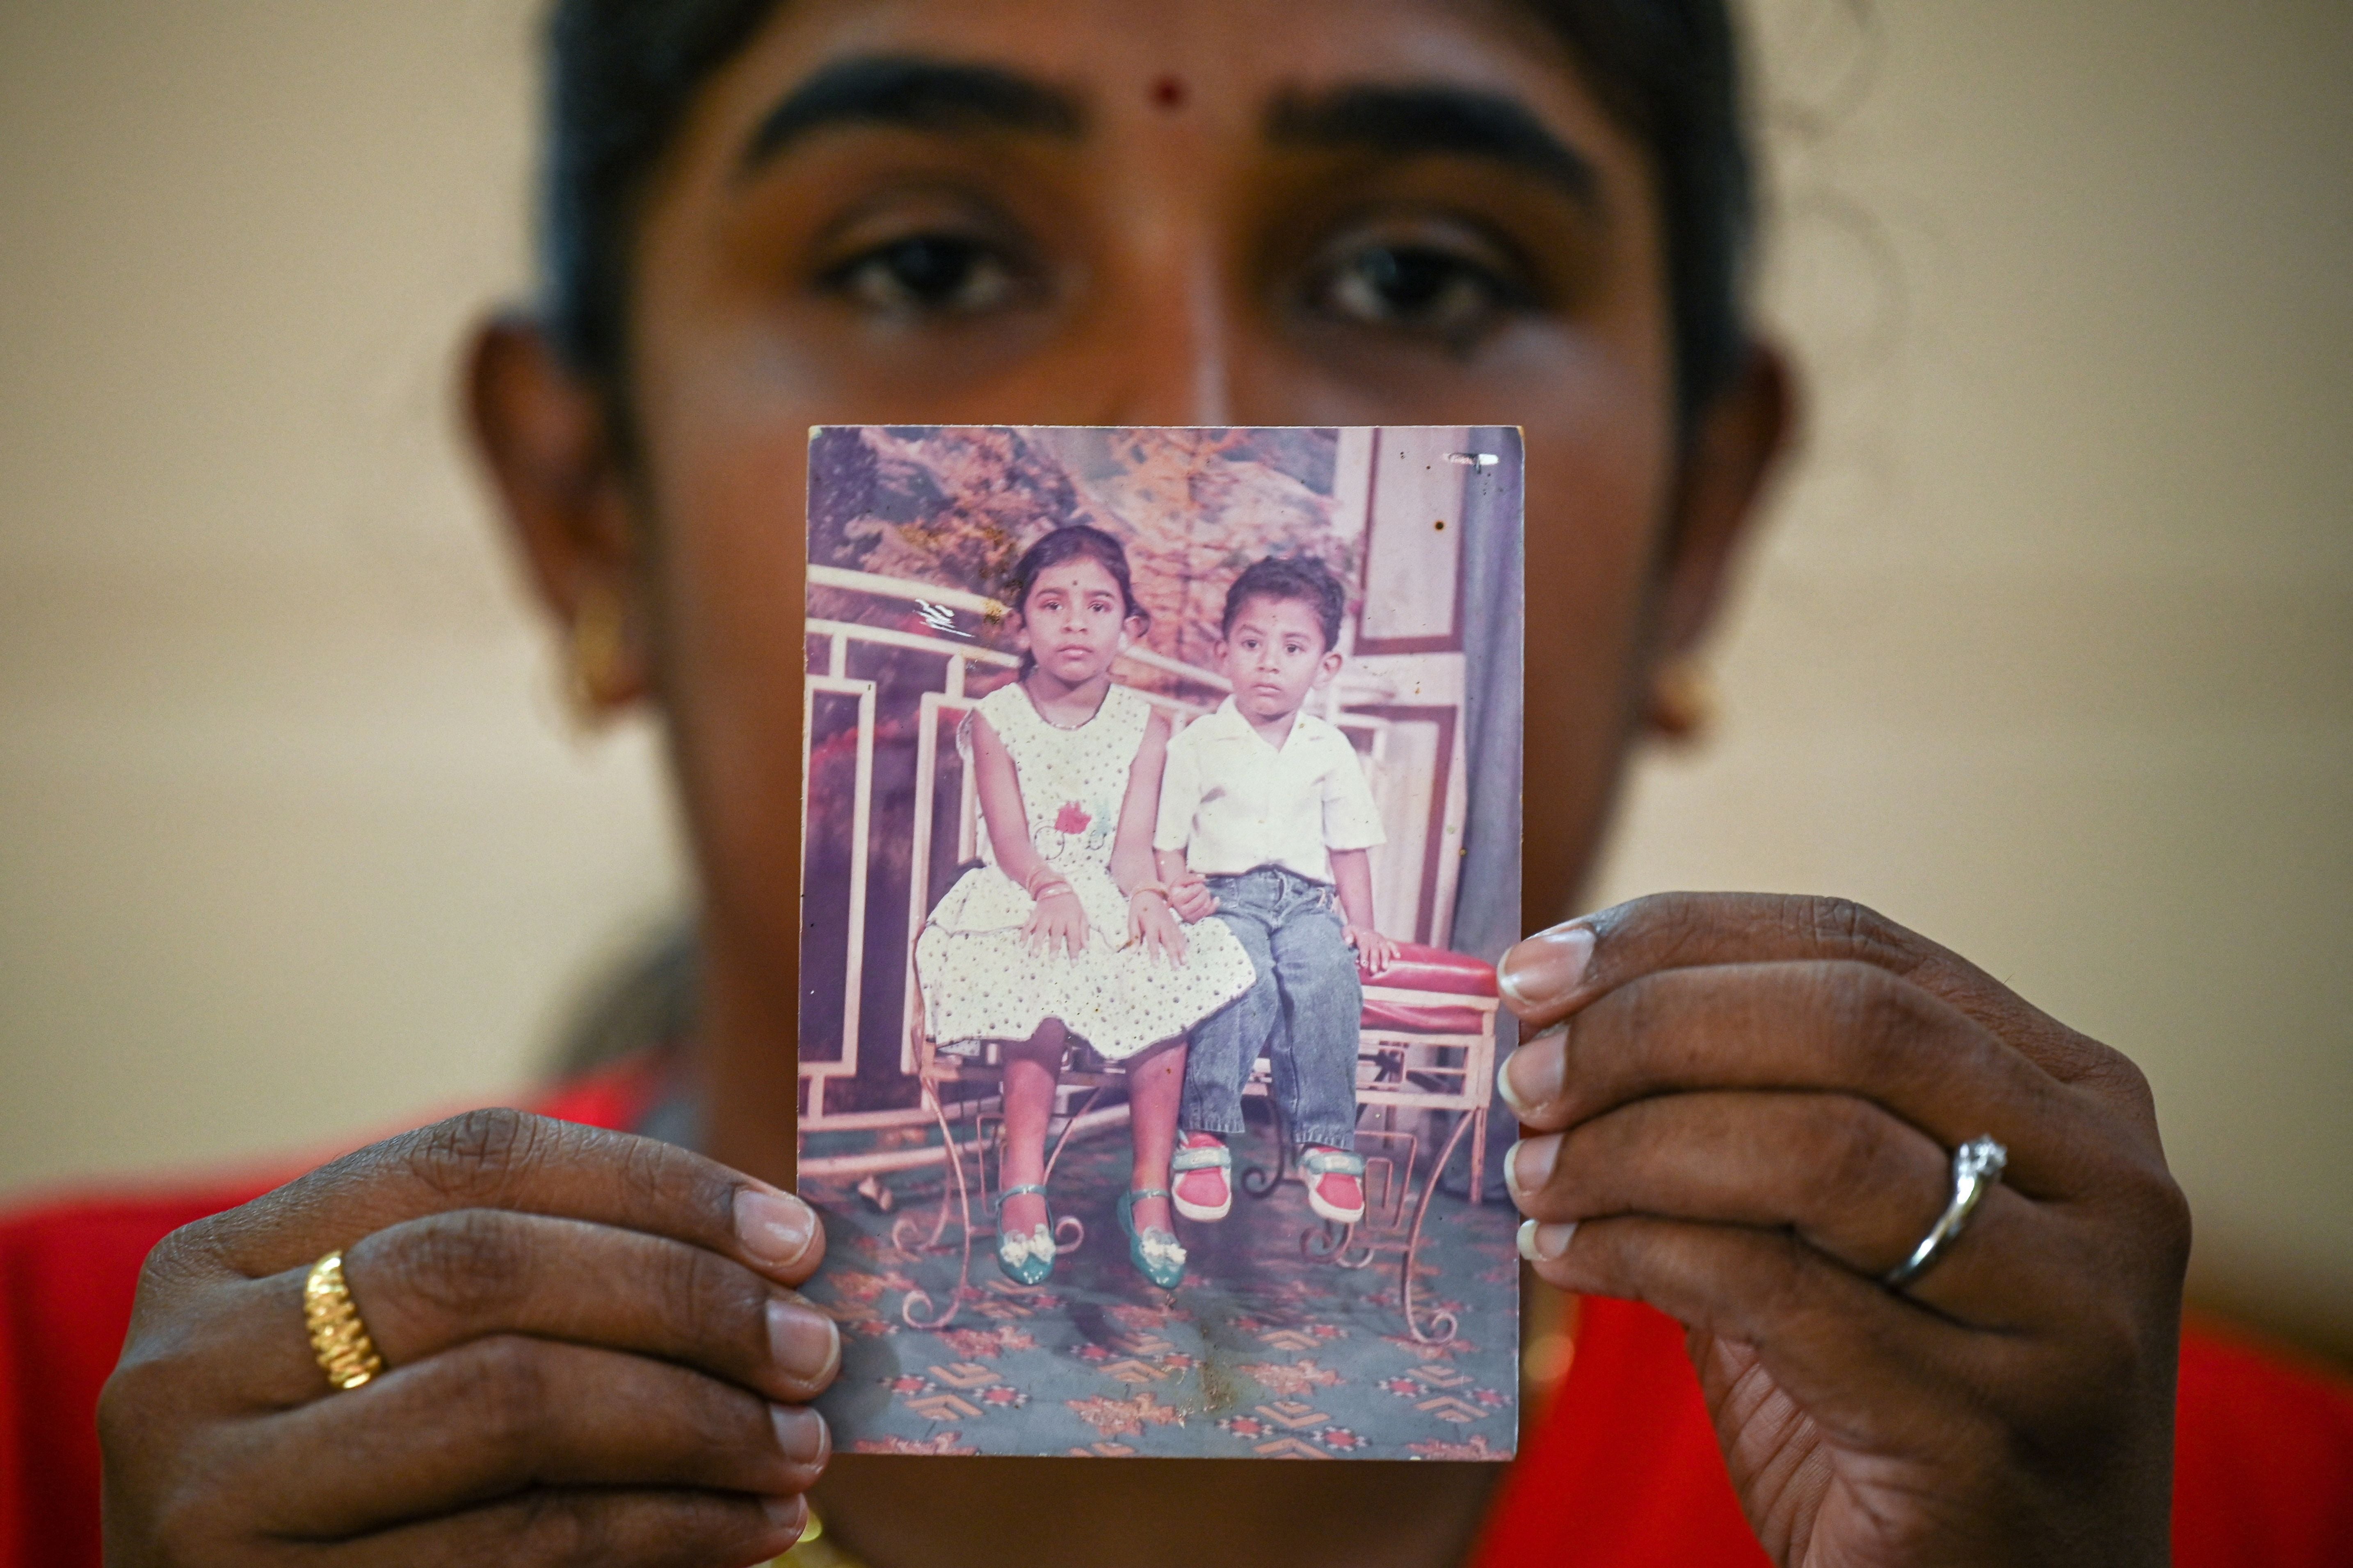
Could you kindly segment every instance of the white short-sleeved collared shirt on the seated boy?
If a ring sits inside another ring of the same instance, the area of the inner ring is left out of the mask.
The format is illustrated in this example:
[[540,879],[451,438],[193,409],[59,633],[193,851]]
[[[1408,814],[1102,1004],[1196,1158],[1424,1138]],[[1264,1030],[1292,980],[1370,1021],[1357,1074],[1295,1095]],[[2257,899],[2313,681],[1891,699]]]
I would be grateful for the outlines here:
[[1271,745],[1226,703],[1169,741],[1153,849],[1181,849],[1202,877],[1280,865],[1332,882],[1334,849],[1388,842],[1348,736],[1299,712]]

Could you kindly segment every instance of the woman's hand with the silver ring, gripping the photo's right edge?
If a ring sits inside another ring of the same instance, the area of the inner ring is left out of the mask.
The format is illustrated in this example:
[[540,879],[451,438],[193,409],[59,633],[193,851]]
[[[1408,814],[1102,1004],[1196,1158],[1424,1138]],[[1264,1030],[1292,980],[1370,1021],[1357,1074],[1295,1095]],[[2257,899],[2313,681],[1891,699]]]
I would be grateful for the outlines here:
[[[1871,910],[1642,898],[1529,938],[1522,1251],[1652,1302],[1781,1563],[2162,1563],[2188,1208],[2129,1060]],[[2009,1168],[1882,1286],[1977,1135]]]

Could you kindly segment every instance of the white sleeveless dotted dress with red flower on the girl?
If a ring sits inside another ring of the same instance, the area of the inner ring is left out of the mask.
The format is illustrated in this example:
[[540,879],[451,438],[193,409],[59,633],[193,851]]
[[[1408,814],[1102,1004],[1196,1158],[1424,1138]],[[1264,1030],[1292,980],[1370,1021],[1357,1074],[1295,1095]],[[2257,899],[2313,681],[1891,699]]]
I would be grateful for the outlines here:
[[[998,870],[981,825],[981,865],[965,872],[932,910],[915,940],[925,1030],[944,1051],[979,1041],[1021,1041],[1059,1018],[1096,1056],[1120,1060],[1184,1034],[1257,980],[1249,954],[1224,922],[1181,926],[1184,964],[1141,943],[1127,945],[1127,896],[1111,879],[1111,842],[1127,797],[1127,771],[1144,745],[1153,710],[1125,686],[1078,729],[1038,717],[1019,682],[979,703],[1021,780],[1031,842],[1064,877],[1087,912],[1087,945],[1073,959],[1028,950],[1035,900]],[[972,764],[960,738],[958,750]]]

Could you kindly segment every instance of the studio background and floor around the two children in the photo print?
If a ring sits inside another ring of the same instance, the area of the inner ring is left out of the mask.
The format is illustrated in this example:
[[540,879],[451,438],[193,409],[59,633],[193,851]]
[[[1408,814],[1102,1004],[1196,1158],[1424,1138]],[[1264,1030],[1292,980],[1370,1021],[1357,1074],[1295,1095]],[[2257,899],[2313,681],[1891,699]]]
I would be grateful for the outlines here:
[[[1139,698],[1174,731],[1228,698],[1245,567],[1339,578],[1344,663],[1301,712],[1355,752],[1386,839],[1374,926],[1405,945],[1353,1025],[1362,1220],[1311,1208],[1261,1058],[1231,1215],[1174,1222],[1174,1288],[1115,1213],[1129,1063],[1082,1039],[1047,1128],[1052,1272],[1012,1276],[1002,1053],[927,1039],[915,961],[986,844],[958,729],[1016,679],[1012,569],[1073,524],[1125,548],[1151,616],[1101,712],[1141,722]],[[800,1190],[828,1222],[809,1293],[845,1338],[838,1446],[1508,1458],[1513,1215],[1473,1173],[1511,1135],[1489,1105],[1520,905],[1518,430],[821,428],[807,616]]]

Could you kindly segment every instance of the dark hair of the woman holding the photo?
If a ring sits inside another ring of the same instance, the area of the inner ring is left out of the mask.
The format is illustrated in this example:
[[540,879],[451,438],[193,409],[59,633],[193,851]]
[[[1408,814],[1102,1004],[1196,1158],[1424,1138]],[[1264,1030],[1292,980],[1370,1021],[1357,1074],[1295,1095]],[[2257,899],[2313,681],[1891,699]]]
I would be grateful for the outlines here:
[[[544,313],[569,364],[619,395],[628,256],[645,186],[704,82],[784,0],[555,0],[548,19]],[[1753,195],[1739,47],[1725,0],[1520,0],[1649,150],[1666,223],[1675,411],[1692,416],[1748,350]]]

